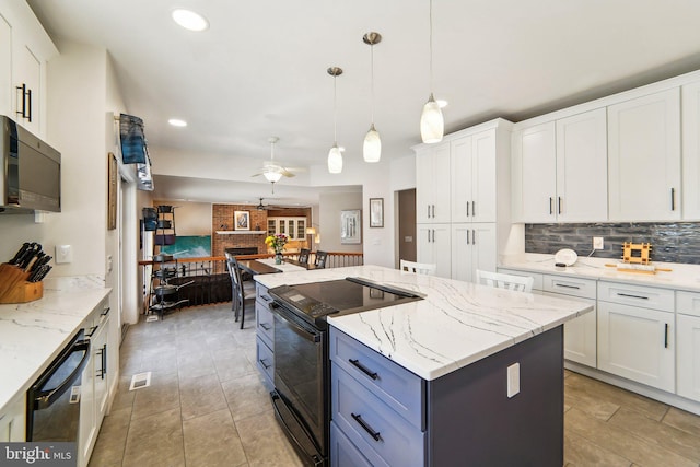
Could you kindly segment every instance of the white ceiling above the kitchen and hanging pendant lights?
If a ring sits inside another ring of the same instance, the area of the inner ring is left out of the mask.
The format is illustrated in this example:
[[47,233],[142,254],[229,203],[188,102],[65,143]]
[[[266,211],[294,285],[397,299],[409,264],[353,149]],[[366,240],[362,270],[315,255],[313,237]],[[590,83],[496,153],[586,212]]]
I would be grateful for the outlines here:
[[[374,49],[382,156],[408,155],[420,142],[430,93],[428,0],[28,3],[59,49],[59,38],[70,38],[109,51],[129,113],[145,121],[151,153],[177,149],[197,160],[217,154],[261,165],[277,136],[280,164],[325,165],[334,142],[326,69],[339,66],[338,143],[346,163],[361,161],[371,119],[362,36],[370,31],[383,35]],[[180,28],[170,16],[175,8],[198,11],[211,27]],[[522,120],[700,68],[700,2],[692,0],[434,0],[433,17],[433,87],[450,102],[447,132],[493,117]],[[188,127],[168,126],[172,117]],[[155,178],[160,198],[188,199],[188,174],[178,175],[177,183]],[[303,203],[313,198],[299,196]]]

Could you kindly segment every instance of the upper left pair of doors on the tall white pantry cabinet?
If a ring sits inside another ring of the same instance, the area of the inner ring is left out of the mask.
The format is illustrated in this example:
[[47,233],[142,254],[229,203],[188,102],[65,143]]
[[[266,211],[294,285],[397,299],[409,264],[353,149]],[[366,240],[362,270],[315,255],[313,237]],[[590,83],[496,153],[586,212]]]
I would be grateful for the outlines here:
[[416,222],[450,222],[450,143],[416,155]]

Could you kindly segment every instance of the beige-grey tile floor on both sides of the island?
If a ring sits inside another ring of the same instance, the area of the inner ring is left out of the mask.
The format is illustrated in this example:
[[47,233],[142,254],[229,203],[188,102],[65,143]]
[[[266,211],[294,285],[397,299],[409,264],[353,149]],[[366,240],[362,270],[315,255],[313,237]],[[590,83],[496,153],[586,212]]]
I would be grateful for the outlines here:
[[[255,367],[255,319],[230,304],[131,326],[91,467],[300,466]],[[151,386],[129,390],[131,375]],[[700,465],[700,417],[567,372],[567,466]]]

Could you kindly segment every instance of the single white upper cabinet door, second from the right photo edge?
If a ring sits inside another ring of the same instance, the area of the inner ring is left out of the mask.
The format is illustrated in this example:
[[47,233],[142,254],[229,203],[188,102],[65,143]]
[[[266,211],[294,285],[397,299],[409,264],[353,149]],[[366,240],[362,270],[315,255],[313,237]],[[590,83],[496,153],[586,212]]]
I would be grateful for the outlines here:
[[680,219],[680,96],[672,89],[608,107],[610,221]]

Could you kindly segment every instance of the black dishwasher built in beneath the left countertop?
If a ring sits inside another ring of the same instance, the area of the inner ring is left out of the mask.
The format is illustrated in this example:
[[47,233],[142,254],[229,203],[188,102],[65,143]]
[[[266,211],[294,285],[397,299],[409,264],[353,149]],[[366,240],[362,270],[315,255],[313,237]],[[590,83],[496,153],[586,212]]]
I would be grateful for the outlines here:
[[90,340],[80,330],[26,395],[26,441],[78,441],[80,378]]

